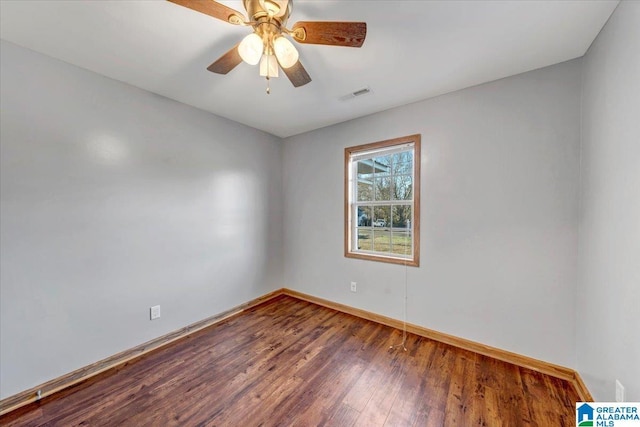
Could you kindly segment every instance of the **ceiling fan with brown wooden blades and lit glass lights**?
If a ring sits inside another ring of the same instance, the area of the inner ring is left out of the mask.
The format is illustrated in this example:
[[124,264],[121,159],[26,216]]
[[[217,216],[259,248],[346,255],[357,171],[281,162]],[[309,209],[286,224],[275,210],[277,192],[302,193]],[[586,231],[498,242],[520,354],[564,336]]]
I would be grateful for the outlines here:
[[240,62],[260,63],[260,75],[278,77],[278,68],[299,87],[311,81],[298,59],[298,51],[285,35],[298,43],[361,47],[367,35],[365,22],[299,21],[287,28],[293,0],[243,0],[249,20],[242,13],[214,0],[168,0],[230,24],[253,27],[253,32],[222,55],[207,70],[227,74]]

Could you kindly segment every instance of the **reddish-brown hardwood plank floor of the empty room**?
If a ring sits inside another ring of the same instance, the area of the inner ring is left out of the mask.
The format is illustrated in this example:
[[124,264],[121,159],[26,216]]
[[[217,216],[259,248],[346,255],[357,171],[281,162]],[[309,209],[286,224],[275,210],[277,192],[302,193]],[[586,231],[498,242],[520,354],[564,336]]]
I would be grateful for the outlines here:
[[281,296],[2,426],[572,426],[566,381]]

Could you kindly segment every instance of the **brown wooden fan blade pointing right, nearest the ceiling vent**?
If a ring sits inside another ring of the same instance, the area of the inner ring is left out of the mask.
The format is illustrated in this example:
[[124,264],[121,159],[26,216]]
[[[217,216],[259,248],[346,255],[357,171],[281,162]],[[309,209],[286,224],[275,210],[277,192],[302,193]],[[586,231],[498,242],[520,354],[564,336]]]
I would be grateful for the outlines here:
[[300,43],[360,47],[367,36],[367,23],[300,21],[293,24],[292,36]]

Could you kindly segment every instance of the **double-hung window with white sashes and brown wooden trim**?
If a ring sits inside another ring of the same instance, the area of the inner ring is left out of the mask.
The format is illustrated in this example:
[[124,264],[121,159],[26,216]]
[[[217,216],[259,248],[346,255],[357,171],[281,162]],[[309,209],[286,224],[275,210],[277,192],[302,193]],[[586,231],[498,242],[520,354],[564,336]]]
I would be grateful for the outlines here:
[[419,265],[420,135],[348,147],[344,254]]

